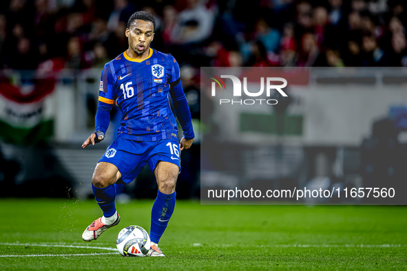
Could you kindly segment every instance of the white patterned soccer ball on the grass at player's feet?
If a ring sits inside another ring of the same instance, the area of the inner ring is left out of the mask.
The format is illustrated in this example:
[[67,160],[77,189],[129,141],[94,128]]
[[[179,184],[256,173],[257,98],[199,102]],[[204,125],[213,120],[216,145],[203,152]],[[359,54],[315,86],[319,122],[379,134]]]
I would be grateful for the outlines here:
[[140,226],[128,226],[118,232],[116,246],[124,257],[145,257],[150,249],[150,237]]

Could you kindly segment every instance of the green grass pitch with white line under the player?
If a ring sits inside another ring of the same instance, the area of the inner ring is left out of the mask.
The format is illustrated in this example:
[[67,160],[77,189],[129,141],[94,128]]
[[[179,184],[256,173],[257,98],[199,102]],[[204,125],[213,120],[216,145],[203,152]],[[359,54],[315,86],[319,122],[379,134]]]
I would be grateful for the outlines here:
[[114,251],[118,232],[129,225],[149,231],[152,203],[118,204],[121,224],[86,243],[83,230],[101,215],[96,202],[0,199],[0,270],[407,269],[405,206],[200,206],[179,200],[160,241],[167,257],[122,257]]

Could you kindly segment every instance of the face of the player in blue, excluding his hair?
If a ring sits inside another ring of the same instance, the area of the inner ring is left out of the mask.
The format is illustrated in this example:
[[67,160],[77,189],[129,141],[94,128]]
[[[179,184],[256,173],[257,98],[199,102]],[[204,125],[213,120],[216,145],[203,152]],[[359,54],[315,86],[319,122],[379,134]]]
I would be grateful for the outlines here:
[[154,25],[151,21],[134,20],[130,28],[126,29],[129,39],[129,49],[138,56],[149,50],[154,38]]

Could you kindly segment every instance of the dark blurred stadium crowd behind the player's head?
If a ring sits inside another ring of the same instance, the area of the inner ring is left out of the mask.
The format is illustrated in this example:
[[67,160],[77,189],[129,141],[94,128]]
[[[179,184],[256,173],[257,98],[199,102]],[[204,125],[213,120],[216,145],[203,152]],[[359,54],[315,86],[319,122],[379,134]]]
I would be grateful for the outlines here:
[[127,49],[127,19],[156,17],[157,50],[201,66],[407,65],[402,0],[11,0],[0,68],[103,67]]

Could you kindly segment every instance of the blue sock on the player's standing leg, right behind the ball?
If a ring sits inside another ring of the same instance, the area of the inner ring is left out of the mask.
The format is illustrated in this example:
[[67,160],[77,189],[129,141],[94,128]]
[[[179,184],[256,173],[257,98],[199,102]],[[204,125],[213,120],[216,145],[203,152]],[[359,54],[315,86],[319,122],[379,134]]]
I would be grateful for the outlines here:
[[160,241],[165,228],[175,208],[176,192],[172,194],[164,194],[158,191],[156,201],[152,209],[152,226],[150,229],[150,239],[154,243]]

